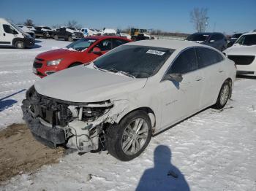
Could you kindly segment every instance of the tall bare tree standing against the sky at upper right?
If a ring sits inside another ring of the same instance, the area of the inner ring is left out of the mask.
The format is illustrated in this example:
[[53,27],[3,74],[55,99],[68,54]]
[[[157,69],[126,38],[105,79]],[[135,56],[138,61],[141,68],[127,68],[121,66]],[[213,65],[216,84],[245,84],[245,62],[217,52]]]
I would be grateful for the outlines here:
[[190,12],[190,19],[191,22],[194,23],[195,30],[197,32],[206,31],[207,23],[207,12],[208,9],[206,8],[194,8],[192,12]]

